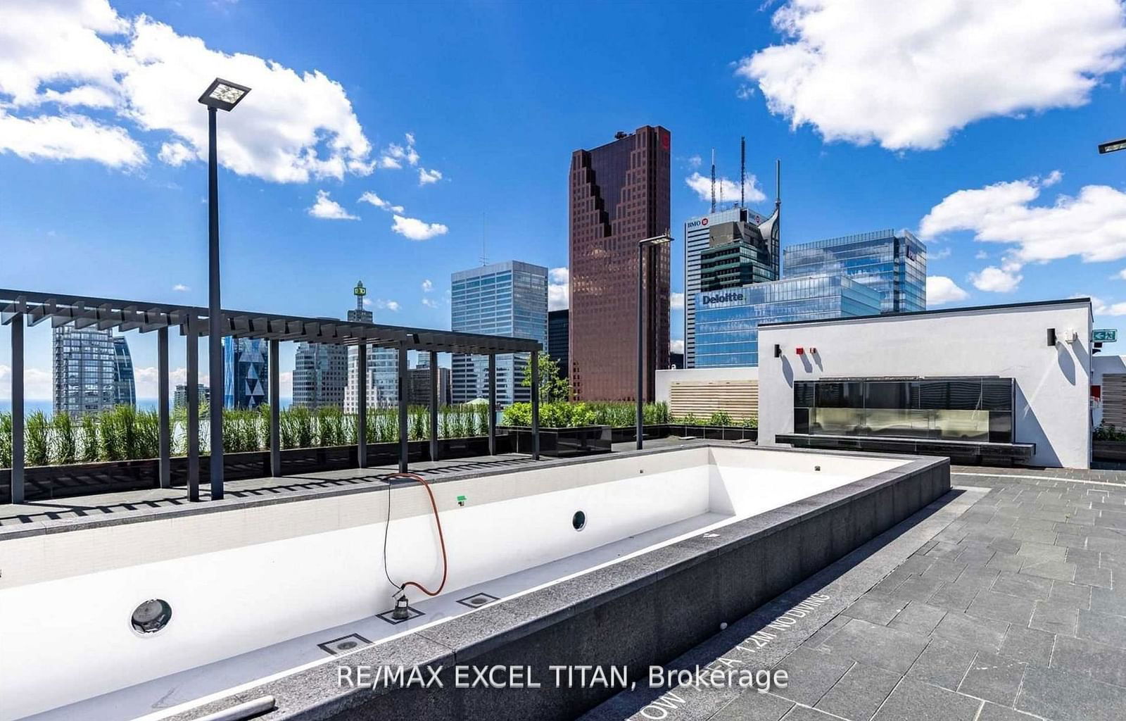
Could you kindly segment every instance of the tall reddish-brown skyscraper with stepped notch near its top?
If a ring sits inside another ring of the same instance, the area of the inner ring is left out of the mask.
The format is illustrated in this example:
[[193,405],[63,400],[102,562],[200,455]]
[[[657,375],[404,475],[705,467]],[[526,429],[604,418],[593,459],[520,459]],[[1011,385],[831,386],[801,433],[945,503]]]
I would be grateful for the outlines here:
[[[571,154],[571,386],[578,400],[637,393],[637,242],[669,230],[671,137],[661,126]],[[652,255],[650,255],[652,253]],[[645,397],[669,367],[669,246],[646,250]]]

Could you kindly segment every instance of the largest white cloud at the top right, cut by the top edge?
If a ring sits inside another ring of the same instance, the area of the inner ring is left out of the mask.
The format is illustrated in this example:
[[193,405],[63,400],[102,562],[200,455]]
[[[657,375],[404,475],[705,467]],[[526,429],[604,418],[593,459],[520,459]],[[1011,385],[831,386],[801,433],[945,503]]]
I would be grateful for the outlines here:
[[1123,65],[1117,0],[790,0],[742,59],[770,112],[826,141],[935,149],[974,121],[1078,107]]

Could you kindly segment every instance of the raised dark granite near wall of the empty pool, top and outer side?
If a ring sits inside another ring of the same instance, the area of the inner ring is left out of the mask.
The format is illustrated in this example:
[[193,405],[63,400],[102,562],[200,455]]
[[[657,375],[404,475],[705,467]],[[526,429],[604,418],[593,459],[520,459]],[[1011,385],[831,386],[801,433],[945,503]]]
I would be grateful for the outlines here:
[[[269,720],[572,719],[620,688],[557,686],[549,666],[626,666],[631,679],[644,679],[649,665],[679,656],[712,637],[720,623],[745,616],[949,490],[948,460],[904,460],[893,471],[723,526],[714,537],[695,536],[328,659],[172,720],[189,721],[265,694],[278,701],[277,711],[260,716]],[[529,667],[543,686],[455,688],[454,664]],[[340,666],[384,665],[440,665],[444,687],[338,684]]]

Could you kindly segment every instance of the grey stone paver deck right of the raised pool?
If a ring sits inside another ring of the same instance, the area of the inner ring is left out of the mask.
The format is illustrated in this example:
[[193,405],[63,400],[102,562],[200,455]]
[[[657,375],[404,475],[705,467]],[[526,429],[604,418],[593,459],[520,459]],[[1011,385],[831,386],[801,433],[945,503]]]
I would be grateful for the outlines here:
[[667,666],[786,669],[786,688],[626,692],[589,719],[1126,719],[1126,472],[953,471],[976,500],[891,572],[873,563],[928,519]]

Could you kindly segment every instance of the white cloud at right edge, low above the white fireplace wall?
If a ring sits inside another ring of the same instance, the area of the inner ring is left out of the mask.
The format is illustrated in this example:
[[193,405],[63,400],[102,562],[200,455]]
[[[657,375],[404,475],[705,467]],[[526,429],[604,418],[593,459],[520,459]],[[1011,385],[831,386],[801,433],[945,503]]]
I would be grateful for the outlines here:
[[[1126,257],[1126,193],[1105,185],[1060,195],[1053,205],[1031,205],[1060,173],[998,183],[946,196],[919,224],[922,238],[973,231],[980,241],[1008,243],[1011,264],[1079,256],[1085,262]],[[1010,273],[1011,275],[1011,273]]]

